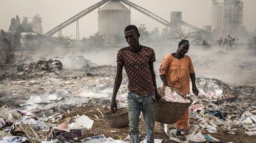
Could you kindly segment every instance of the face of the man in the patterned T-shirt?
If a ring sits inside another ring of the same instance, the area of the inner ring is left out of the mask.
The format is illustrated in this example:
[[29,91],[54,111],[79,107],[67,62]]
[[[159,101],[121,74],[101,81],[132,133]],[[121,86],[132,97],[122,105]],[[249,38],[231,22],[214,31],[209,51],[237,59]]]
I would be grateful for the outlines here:
[[139,43],[139,33],[137,33],[134,29],[124,31],[124,37],[130,46],[135,46]]

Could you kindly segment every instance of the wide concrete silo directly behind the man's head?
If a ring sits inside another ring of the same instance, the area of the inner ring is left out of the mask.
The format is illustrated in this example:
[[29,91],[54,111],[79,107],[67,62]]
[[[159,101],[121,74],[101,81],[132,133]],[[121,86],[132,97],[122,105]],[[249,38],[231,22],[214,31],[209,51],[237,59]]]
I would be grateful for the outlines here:
[[131,24],[131,11],[120,2],[108,2],[98,11],[100,35],[110,37],[124,35],[124,28]]

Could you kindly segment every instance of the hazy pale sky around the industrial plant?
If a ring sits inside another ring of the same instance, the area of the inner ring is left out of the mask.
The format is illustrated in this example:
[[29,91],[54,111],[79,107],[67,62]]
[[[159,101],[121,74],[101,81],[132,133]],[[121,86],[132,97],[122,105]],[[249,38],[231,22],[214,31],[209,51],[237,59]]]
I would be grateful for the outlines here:
[[[129,0],[148,11],[170,21],[170,12],[181,11],[182,20],[202,28],[211,25],[211,1],[210,0]],[[218,0],[222,2],[223,0]],[[0,29],[8,31],[11,18],[16,15],[33,17],[39,14],[42,17],[43,33],[50,31],[60,23],[66,21],[82,10],[100,2],[100,0],[0,0]],[[243,25],[247,31],[256,29],[256,0],[243,0],[244,20]],[[125,5],[125,4],[124,4]],[[126,6],[126,5],[125,5]],[[126,6],[129,8],[129,6]],[[89,37],[98,31],[98,9],[79,19],[79,34]],[[30,18],[29,18],[30,20]],[[22,21],[22,20],[21,20]],[[150,17],[131,8],[131,24],[140,26],[145,24],[148,31],[158,27],[161,31],[165,26]],[[76,22],[62,29],[62,35],[76,36]]]

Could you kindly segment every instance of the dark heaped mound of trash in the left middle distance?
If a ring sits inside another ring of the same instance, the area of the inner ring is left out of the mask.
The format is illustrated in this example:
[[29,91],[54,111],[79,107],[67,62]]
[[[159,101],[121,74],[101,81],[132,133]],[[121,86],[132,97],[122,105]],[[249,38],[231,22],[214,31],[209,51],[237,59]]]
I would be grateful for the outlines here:
[[49,59],[46,60],[38,60],[37,62],[31,62],[28,64],[19,64],[17,67],[18,72],[25,73],[41,73],[42,71],[46,72],[55,72],[62,69],[62,63],[58,60]]

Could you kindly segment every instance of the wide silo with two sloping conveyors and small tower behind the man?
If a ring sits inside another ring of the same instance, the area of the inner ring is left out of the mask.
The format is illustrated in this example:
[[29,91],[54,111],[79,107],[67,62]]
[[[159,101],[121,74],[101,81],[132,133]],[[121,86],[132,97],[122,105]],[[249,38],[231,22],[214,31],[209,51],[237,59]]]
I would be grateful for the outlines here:
[[[123,4],[129,6],[130,8],[126,8]],[[103,5],[103,6],[102,6]],[[102,6],[102,8],[100,8]],[[93,6],[84,9],[80,13],[74,15],[73,17],[69,18],[68,20],[60,23],[57,27],[53,28],[49,32],[45,33],[45,36],[52,36],[57,32],[61,32],[61,30],[73,22],[77,22],[76,25],[76,39],[79,40],[79,26],[78,26],[78,19],[81,17],[89,14],[95,9],[98,10],[98,31],[99,34],[104,36],[105,38],[110,37],[112,35],[123,34],[123,30],[127,25],[131,24],[131,7],[135,10],[145,14],[146,16],[158,21],[162,25],[174,28],[176,30],[181,29],[181,26],[186,26],[191,28],[199,33],[204,35],[210,35],[210,32],[207,32],[203,29],[200,29],[196,26],[193,26],[185,21],[182,21],[182,13],[181,12],[173,12],[171,14],[171,22],[169,20],[165,20],[158,15],[130,2],[127,0],[102,0]],[[173,30],[174,30],[173,29]]]

